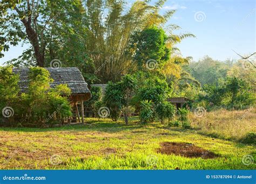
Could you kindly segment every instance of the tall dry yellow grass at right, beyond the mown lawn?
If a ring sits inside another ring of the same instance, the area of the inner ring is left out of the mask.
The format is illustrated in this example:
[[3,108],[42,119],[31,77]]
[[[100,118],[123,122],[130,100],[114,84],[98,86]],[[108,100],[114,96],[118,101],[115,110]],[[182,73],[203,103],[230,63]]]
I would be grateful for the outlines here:
[[199,133],[225,139],[240,140],[248,132],[256,132],[256,108],[206,112],[203,117],[190,115],[191,125]]

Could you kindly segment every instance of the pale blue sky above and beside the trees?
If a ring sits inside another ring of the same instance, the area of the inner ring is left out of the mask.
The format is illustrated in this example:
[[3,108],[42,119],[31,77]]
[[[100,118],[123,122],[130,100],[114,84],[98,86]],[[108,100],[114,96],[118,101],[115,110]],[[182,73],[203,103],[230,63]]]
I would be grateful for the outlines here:
[[[238,59],[232,51],[246,55],[256,51],[255,0],[181,0],[167,1],[161,10],[176,9],[167,24],[177,24],[182,29],[176,33],[192,33],[197,38],[187,38],[178,44],[183,56],[194,61],[209,55],[213,59]],[[28,45],[11,47],[5,52],[3,62],[21,55]]]

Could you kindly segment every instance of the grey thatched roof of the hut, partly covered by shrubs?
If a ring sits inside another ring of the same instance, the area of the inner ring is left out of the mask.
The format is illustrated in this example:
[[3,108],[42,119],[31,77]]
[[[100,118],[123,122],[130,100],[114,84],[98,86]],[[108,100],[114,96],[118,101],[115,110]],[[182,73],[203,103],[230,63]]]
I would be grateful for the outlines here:
[[[68,87],[71,89],[72,95],[90,95],[90,90],[87,87],[87,83],[84,80],[84,77],[78,68],[45,68],[50,74],[51,78],[54,80],[50,84],[51,88],[59,84],[68,84]],[[19,87],[21,92],[24,93],[28,89],[29,84],[29,68],[14,68],[13,72],[19,74]]]

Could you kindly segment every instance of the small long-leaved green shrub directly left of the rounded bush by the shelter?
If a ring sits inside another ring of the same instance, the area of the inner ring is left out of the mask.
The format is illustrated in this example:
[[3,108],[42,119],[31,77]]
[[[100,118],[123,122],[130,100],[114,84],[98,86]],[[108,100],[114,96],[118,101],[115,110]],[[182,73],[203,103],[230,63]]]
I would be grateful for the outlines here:
[[152,101],[142,101],[140,102],[140,112],[139,119],[143,124],[149,123],[152,121],[154,115],[153,102]]

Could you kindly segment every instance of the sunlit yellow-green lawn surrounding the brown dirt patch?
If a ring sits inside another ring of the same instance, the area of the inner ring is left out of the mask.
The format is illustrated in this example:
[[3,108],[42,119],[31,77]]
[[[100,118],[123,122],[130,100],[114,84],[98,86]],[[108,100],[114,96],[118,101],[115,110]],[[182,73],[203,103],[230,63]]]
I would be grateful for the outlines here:
[[[138,117],[113,123],[87,118],[62,128],[0,128],[0,169],[255,169],[253,145],[201,135],[196,130],[142,126]],[[159,152],[166,142],[188,143],[207,152],[187,158]],[[207,159],[212,152],[218,157]],[[206,156],[206,157],[205,157]],[[250,158],[249,158],[250,159]],[[250,161],[250,160],[249,160]]]

